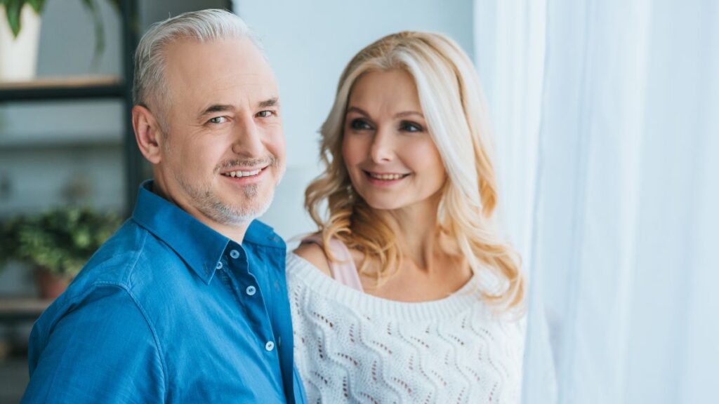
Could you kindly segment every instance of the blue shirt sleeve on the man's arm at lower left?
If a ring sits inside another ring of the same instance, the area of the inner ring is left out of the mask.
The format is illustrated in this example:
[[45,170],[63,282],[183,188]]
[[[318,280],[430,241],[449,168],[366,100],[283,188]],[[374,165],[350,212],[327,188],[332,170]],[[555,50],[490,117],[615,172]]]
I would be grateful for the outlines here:
[[22,403],[162,403],[155,335],[132,296],[115,285],[41,318],[29,343]]

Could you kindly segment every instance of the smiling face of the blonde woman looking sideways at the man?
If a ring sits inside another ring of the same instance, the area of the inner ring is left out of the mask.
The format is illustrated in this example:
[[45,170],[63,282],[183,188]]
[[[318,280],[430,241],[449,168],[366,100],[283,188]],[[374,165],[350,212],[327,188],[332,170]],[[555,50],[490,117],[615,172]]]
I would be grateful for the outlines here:
[[354,190],[372,208],[436,203],[446,173],[409,73],[373,71],[354,83],[342,157]]

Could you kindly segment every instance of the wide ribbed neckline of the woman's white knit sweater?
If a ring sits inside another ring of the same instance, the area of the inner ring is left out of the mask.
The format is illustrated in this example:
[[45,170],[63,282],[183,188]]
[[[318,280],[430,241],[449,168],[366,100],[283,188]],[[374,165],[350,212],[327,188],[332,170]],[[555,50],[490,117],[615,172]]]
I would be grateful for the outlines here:
[[446,298],[423,302],[402,302],[379,298],[354,290],[337,282],[295,253],[288,254],[288,278],[305,283],[319,295],[344,304],[372,318],[392,318],[408,321],[436,320],[456,316],[473,306],[482,305],[477,275],[472,275],[461,288]]

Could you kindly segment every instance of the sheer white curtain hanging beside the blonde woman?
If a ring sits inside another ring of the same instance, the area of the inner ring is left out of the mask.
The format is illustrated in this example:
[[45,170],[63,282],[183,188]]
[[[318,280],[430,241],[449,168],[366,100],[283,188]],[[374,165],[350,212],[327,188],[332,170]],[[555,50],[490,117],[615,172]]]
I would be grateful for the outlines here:
[[524,403],[717,402],[719,2],[476,0],[475,57]]

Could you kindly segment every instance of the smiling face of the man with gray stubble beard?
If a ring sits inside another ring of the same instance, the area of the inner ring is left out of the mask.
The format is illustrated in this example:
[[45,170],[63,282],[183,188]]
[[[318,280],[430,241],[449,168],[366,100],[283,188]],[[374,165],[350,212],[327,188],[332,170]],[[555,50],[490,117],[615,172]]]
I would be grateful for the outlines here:
[[[168,133],[155,177],[201,221],[236,225],[270,205],[285,168],[275,76],[247,39],[167,49]],[[159,178],[158,178],[159,177]]]

